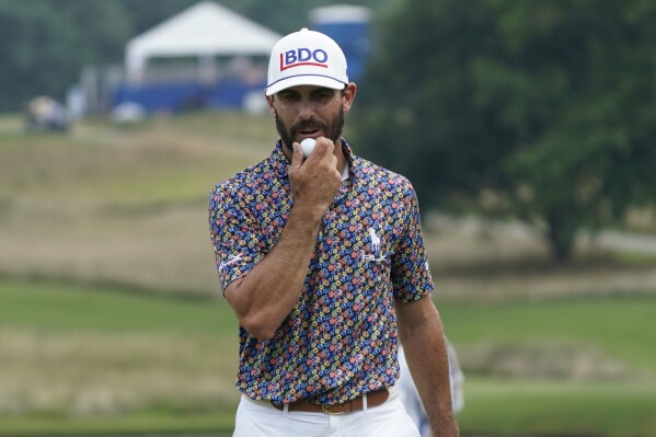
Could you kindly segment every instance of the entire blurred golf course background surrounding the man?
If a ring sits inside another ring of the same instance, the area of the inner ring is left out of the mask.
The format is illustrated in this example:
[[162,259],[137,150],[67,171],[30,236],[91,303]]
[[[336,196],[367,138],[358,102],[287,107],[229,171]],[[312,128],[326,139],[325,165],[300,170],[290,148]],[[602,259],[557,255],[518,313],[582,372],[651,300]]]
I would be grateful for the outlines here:
[[[0,0],[0,436],[220,436],[214,184],[274,43],[344,48],[355,152],[419,195],[469,436],[656,435],[656,3]],[[226,434],[229,435],[229,434]]]

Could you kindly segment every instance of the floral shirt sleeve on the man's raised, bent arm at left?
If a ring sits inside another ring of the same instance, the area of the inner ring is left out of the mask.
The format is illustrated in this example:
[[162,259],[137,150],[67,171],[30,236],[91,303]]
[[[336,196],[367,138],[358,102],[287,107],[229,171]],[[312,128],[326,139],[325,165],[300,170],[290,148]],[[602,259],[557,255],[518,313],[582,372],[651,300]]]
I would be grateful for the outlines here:
[[264,256],[262,233],[234,189],[218,184],[209,195],[209,234],[222,292]]

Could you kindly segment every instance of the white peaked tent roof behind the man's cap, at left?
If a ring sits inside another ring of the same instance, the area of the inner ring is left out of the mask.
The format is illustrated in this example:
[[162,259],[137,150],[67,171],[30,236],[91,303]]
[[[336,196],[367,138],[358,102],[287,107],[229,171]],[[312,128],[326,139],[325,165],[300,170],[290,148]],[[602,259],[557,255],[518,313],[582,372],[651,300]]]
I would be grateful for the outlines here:
[[149,58],[266,55],[281,35],[211,1],[199,2],[133,38],[126,47],[130,82],[142,78]]

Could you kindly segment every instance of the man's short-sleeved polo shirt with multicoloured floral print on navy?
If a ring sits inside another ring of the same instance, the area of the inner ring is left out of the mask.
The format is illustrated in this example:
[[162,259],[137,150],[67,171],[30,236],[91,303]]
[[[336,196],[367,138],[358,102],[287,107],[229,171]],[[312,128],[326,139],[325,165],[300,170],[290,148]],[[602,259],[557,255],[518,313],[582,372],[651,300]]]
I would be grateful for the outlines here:
[[[272,340],[240,326],[237,387],[251,399],[333,405],[394,384],[393,300],[434,288],[411,183],[343,147],[349,175],[325,212],[298,302]],[[212,189],[209,226],[223,289],[278,241],[294,204],[288,165],[278,142]]]

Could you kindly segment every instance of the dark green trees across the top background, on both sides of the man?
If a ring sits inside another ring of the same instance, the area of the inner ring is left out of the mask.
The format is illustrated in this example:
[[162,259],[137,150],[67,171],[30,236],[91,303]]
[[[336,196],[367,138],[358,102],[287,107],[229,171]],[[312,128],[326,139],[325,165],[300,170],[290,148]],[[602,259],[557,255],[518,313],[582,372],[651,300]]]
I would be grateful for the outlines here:
[[[196,0],[0,0],[0,112],[61,96],[88,65]],[[225,0],[279,33],[324,0]],[[656,195],[656,2],[387,0],[348,137],[423,209],[515,217],[555,260]],[[381,8],[384,5],[384,8]]]

